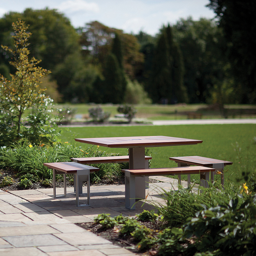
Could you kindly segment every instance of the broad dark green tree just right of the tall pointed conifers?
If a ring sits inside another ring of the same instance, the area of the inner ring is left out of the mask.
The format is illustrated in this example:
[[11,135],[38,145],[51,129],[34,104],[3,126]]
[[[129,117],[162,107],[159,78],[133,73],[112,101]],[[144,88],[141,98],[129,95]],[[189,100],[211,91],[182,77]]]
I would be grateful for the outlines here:
[[228,70],[223,70],[228,59],[222,52],[226,42],[221,29],[214,21],[194,21],[189,17],[173,26],[173,37],[183,56],[184,85],[189,102],[206,102],[214,84],[219,84],[228,75]]

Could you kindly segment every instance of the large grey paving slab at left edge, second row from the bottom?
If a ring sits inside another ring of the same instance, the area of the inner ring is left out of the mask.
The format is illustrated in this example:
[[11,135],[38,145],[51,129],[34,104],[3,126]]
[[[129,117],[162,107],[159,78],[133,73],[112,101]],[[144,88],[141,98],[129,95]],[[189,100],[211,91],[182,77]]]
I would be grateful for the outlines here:
[[[59,234],[57,234],[59,235]],[[23,235],[23,236],[3,236],[5,241],[17,247],[34,247],[43,245],[62,245],[67,243],[51,234],[43,235]]]

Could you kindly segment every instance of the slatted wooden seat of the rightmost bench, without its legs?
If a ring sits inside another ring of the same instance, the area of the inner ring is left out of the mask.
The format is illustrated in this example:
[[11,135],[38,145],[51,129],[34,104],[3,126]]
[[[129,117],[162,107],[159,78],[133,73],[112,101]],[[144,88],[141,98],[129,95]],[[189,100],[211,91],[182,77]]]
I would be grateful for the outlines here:
[[170,160],[185,164],[198,164],[201,166],[212,166],[212,164],[218,164],[223,163],[224,165],[233,164],[229,161],[219,160],[219,159],[213,159],[208,157],[202,157],[202,156],[178,156],[178,157],[169,157]]

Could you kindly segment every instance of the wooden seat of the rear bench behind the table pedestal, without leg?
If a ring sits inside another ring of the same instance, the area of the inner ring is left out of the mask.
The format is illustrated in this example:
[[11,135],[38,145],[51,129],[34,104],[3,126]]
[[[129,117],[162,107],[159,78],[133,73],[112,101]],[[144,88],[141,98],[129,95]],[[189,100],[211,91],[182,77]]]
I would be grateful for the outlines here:
[[[70,158],[76,160],[78,163],[125,163],[129,162],[129,156],[98,156],[98,157],[80,157]],[[145,160],[152,159],[151,156],[145,156]]]

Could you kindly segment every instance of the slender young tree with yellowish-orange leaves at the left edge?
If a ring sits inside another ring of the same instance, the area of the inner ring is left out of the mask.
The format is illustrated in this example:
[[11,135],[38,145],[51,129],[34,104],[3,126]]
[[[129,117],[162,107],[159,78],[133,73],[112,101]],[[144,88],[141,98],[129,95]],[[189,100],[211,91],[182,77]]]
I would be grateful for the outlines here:
[[[38,89],[40,80],[50,71],[37,66],[40,60],[28,57],[28,38],[31,35],[28,26],[19,19],[12,27],[14,49],[1,45],[4,51],[11,54],[10,64],[16,72],[10,74],[10,80],[0,74],[0,119],[3,126],[0,130],[0,145],[10,144],[24,136],[21,121],[26,109],[38,107],[45,111],[46,106],[52,101],[44,94],[44,89]],[[33,118],[36,119],[36,115]],[[48,119],[48,116],[44,118]],[[42,120],[38,125],[41,124]]]

